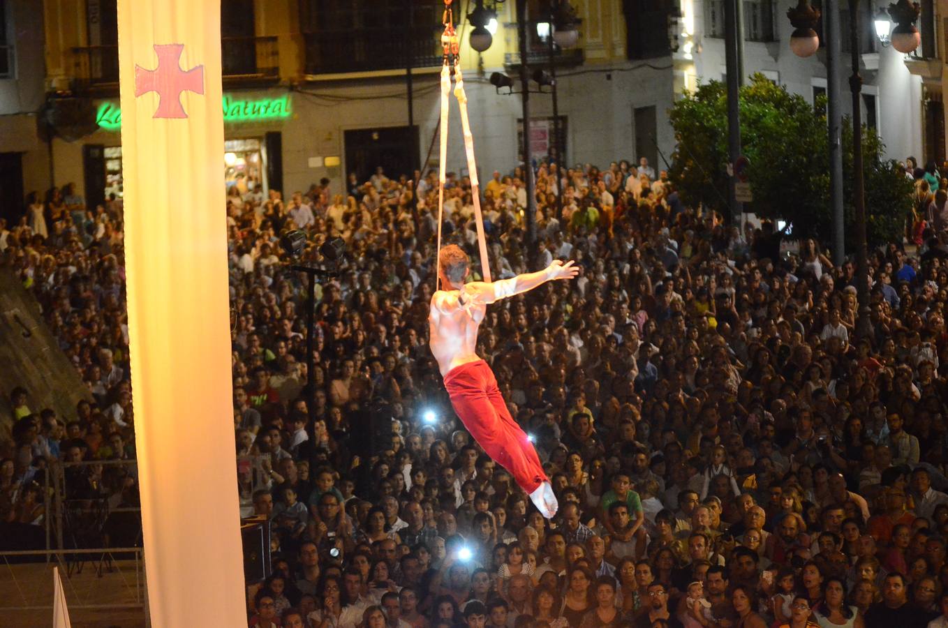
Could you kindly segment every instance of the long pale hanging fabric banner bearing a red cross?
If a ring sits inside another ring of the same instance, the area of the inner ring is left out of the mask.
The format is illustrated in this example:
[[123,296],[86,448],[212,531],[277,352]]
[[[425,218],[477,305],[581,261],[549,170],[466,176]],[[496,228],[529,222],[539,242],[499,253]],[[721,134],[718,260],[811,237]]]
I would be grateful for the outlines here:
[[222,1],[110,1],[148,614],[154,626],[242,626]]

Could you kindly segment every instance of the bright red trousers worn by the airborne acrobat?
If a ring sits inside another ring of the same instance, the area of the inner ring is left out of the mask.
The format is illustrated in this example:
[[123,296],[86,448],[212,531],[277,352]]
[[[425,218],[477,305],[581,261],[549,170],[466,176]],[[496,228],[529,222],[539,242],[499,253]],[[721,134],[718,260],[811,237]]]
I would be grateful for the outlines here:
[[528,494],[547,480],[537,450],[503,403],[493,371],[483,360],[452,368],[445,388],[454,411],[487,453]]

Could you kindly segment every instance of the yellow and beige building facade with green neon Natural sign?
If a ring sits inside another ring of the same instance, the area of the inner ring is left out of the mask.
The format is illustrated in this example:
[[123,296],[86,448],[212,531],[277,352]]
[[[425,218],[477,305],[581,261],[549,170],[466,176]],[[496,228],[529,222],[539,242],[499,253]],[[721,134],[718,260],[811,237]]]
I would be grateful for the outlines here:
[[[483,53],[469,45],[467,17],[457,16],[482,177],[520,161],[515,4],[485,3],[497,20],[493,44]],[[30,0],[0,0],[0,6],[23,13],[13,16],[18,23],[35,23],[37,45],[16,51],[34,64],[18,73],[32,78],[33,101],[21,105],[17,132],[0,136],[0,152],[18,153],[24,164],[23,190],[72,182],[90,205],[120,196],[116,0],[45,0],[42,15],[30,13],[36,6]],[[673,147],[665,121],[674,101],[672,5],[583,0],[574,6],[580,40],[557,49],[552,60],[567,162],[601,165],[641,153],[664,167],[661,160]],[[378,165],[390,175],[409,173],[412,144],[421,164],[436,164],[442,9],[443,0],[222,0],[227,142],[221,167],[228,185],[252,181],[286,193],[327,177],[342,192],[350,172],[360,180]],[[549,13],[547,0],[528,1],[531,72],[551,63],[540,36],[549,36]],[[515,79],[515,94],[490,84],[495,71]],[[531,96],[530,129],[538,159],[554,141],[551,88],[531,81],[530,89],[538,92]],[[36,117],[45,122],[27,119]],[[453,102],[450,134],[448,168],[465,174]]]

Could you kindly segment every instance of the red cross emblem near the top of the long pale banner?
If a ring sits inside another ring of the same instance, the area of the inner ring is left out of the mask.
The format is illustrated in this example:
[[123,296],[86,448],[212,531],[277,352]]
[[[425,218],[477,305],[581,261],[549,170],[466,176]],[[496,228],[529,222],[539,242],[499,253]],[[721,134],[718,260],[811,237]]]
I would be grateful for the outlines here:
[[158,109],[154,117],[188,117],[181,106],[181,92],[204,94],[204,65],[190,70],[181,69],[184,44],[155,44],[158,66],[146,70],[136,63],[135,96],[148,92],[158,93]]

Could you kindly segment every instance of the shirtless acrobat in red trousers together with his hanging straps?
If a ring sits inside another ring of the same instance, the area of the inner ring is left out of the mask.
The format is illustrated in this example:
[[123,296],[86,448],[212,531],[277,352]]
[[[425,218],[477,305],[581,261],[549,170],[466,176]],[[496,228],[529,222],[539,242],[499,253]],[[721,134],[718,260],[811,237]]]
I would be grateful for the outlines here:
[[[537,450],[520,429],[520,425],[510,416],[493,371],[478,356],[475,348],[478,328],[488,305],[501,298],[533,290],[546,281],[572,279],[576,277],[578,270],[573,261],[564,264],[556,260],[537,273],[527,273],[501,281],[490,279],[481,214],[481,192],[477,162],[474,158],[474,138],[467,117],[467,96],[461,74],[461,56],[458,53],[452,2],[453,0],[445,0],[445,32],[441,37],[445,56],[441,68],[441,162],[438,178],[438,257],[435,273],[441,282],[441,289],[435,290],[431,296],[428,343],[434,359],[438,361],[441,375],[445,378],[445,388],[451,398],[451,405],[467,431],[488,456],[514,476],[517,484],[530,495],[543,516],[550,519],[556,514],[556,495],[540,465]],[[447,170],[447,117],[452,75],[456,81],[454,96],[461,109],[461,127],[465,136],[465,155],[471,182],[483,281],[467,281],[470,276],[470,261],[459,246],[451,244],[441,248]]]

